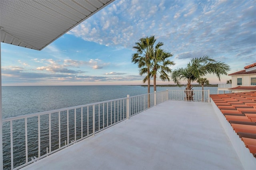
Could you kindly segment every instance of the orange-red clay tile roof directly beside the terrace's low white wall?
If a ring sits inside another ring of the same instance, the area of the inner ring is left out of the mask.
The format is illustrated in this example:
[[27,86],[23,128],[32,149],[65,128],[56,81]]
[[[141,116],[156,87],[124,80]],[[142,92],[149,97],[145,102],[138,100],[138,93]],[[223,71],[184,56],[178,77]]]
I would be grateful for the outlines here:
[[244,142],[245,147],[256,157],[256,91],[210,97]]

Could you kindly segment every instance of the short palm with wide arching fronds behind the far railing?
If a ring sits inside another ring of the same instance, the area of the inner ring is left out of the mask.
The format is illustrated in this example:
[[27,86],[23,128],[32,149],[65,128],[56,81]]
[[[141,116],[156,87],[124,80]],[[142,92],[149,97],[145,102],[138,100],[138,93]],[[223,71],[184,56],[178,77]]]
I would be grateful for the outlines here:
[[186,98],[188,101],[193,100],[191,82],[206,74],[214,74],[220,81],[220,75],[227,75],[230,70],[229,65],[216,61],[209,56],[193,58],[185,68],[178,68],[172,72],[172,81],[181,85],[181,81],[187,81]]

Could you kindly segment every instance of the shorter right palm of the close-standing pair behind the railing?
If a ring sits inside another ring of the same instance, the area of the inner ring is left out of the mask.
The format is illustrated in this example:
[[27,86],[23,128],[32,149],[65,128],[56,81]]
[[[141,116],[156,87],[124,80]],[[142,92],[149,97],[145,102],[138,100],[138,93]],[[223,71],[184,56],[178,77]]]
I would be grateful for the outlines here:
[[[163,44],[163,43],[162,43]],[[171,65],[175,65],[173,61],[170,61],[168,58],[172,57],[173,54],[163,49],[160,49],[158,46],[154,49],[154,55],[152,59],[152,64],[150,66],[150,75],[154,79],[154,91],[156,91],[156,75],[160,73],[159,78],[162,81],[170,81],[168,73],[171,73],[172,70],[169,68]]]

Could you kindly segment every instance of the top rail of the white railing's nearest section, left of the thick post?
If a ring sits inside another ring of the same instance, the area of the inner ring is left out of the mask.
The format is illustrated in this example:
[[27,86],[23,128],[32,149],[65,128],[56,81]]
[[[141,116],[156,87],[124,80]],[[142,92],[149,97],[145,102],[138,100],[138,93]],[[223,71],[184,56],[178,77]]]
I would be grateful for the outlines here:
[[57,113],[57,112],[61,112],[61,111],[67,111],[67,110],[72,110],[72,109],[76,109],[76,108],[80,108],[80,107],[87,107],[87,106],[92,106],[92,105],[99,105],[99,104],[102,104],[102,103],[108,103],[108,102],[118,101],[118,100],[123,100],[123,99],[127,99],[127,97],[120,98],[120,99],[108,100],[108,101],[101,101],[101,102],[97,102],[97,103],[90,103],[90,104],[86,104],[86,105],[79,105],[79,106],[73,106],[73,107],[66,107],[66,108],[63,108],[63,109],[55,109],[55,110],[51,110],[51,111],[44,111],[44,112],[39,112],[39,113],[32,113],[32,114],[28,114],[28,115],[22,115],[22,116],[16,116],[16,117],[9,117],[9,118],[2,119],[2,121],[3,121],[3,122],[9,122],[9,121],[14,121],[14,120],[18,120],[18,119],[24,119],[24,118],[29,118],[29,117],[35,117],[35,116],[39,116],[39,115],[46,115],[46,114],[49,114],[49,113]]

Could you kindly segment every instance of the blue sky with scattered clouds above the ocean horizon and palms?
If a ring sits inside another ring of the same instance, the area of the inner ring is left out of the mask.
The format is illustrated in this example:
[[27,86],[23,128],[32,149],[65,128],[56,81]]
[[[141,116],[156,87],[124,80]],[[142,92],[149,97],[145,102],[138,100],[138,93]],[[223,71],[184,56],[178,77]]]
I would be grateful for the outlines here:
[[141,85],[132,46],[151,35],[174,54],[172,70],[208,55],[234,73],[256,62],[255,16],[255,0],[116,0],[42,51],[1,43],[2,85]]

